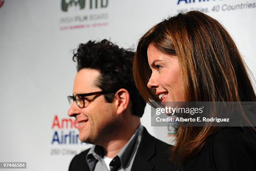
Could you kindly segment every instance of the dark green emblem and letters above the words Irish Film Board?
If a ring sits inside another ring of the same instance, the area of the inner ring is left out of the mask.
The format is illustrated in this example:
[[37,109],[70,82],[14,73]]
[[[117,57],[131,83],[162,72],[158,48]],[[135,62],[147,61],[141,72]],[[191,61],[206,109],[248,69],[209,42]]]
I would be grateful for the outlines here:
[[108,0],[61,0],[61,10],[67,12],[71,8],[79,8],[82,10],[88,5],[89,9],[105,8],[108,6]]

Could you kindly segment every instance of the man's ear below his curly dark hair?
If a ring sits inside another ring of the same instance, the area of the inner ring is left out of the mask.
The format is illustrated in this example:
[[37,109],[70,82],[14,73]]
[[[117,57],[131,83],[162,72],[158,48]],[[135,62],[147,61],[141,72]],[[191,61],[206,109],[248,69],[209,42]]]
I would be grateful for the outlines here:
[[119,89],[115,93],[115,100],[117,105],[117,114],[123,113],[128,108],[130,102],[130,94],[127,89]]

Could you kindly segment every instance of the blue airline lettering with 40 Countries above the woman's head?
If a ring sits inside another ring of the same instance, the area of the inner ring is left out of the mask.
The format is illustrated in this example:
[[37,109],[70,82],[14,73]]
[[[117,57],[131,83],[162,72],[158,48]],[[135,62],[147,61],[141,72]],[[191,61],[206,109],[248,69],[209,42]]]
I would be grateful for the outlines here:
[[204,13],[228,12],[234,10],[252,10],[256,7],[256,2],[227,1],[227,0],[177,0],[177,5],[183,7],[177,12],[188,12],[198,10]]

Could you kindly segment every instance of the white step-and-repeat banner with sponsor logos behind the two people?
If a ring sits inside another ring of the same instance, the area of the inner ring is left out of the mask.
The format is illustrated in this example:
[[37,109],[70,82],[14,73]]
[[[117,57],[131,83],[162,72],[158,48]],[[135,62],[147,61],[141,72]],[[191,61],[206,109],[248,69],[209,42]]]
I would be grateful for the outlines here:
[[[67,96],[76,74],[72,50],[108,39],[136,48],[153,25],[181,11],[219,20],[256,75],[256,0],[0,0],[0,162],[27,162],[29,171],[64,171],[81,143]],[[141,123],[173,144],[175,130]],[[104,114],[102,115],[104,117]]]

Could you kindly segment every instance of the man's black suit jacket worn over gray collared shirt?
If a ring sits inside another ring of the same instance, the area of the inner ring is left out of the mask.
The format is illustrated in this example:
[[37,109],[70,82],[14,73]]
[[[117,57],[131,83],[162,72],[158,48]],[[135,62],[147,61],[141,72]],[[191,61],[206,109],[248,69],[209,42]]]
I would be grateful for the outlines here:
[[[169,160],[171,148],[171,145],[151,136],[144,128],[131,171],[175,171],[177,168]],[[69,171],[90,171],[86,162],[88,152],[89,149],[74,156]]]

